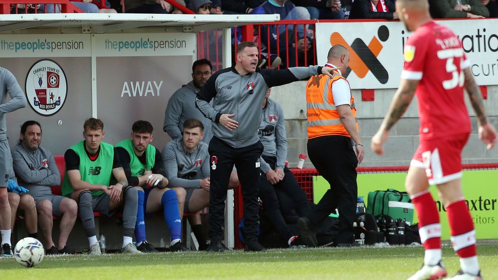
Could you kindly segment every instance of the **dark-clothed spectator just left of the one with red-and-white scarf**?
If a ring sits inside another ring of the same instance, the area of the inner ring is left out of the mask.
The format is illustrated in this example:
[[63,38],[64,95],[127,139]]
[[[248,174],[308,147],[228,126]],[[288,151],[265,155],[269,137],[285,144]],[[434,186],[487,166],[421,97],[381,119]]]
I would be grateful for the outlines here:
[[344,19],[341,0],[292,0],[296,6],[305,7],[311,19]]

